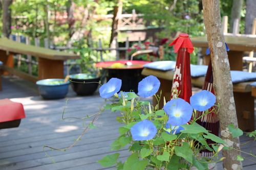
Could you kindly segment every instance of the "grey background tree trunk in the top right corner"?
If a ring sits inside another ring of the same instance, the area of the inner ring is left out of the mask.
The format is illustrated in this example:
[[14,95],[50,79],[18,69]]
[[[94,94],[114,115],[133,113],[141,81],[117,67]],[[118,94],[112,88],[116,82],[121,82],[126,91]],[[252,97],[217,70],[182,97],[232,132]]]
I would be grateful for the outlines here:
[[251,34],[253,19],[256,18],[255,0],[246,0],[245,34]]

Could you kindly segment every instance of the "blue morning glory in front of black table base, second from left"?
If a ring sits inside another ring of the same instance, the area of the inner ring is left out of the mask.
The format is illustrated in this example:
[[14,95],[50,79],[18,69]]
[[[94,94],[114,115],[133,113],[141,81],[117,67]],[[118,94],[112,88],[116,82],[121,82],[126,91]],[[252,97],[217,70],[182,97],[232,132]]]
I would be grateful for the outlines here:
[[160,81],[155,76],[147,76],[138,85],[138,95],[148,98],[156,94],[160,87]]

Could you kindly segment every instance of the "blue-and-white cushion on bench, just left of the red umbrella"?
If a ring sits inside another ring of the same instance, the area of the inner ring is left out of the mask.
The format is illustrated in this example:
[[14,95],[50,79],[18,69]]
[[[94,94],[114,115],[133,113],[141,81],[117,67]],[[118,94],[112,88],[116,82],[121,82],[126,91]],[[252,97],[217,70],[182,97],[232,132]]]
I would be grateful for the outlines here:
[[175,65],[176,61],[154,61],[151,63],[144,64],[143,67],[167,71],[170,69],[175,69]]

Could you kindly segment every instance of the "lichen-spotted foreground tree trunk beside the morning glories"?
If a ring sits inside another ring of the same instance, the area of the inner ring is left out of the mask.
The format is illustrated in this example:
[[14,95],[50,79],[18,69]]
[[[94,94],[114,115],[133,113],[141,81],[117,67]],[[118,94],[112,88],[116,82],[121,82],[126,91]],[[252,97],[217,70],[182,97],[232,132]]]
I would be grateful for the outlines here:
[[[220,119],[221,137],[228,147],[240,150],[239,138],[232,138],[228,125],[238,127],[236,106],[233,97],[233,85],[230,76],[224,35],[221,31],[220,4],[218,0],[203,0],[203,13],[208,45],[210,48],[212,72],[214,74],[214,91],[217,103],[220,104],[218,113]],[[223,81],[225,80],[225,81]],[[237,161],[239,151],[223,150],[224,169],[242,169],[242,162]]]

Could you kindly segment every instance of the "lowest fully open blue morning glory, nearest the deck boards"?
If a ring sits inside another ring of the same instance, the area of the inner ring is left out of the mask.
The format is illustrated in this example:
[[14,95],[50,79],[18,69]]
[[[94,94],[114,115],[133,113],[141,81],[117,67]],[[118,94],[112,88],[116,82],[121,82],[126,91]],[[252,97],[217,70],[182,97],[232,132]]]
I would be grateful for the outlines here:
[[157,128],[150,120],[144,119],[131,128],[131,133],[134,140],[150,140],[156,135]]

